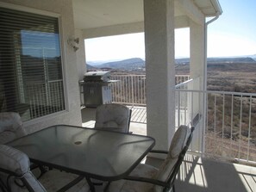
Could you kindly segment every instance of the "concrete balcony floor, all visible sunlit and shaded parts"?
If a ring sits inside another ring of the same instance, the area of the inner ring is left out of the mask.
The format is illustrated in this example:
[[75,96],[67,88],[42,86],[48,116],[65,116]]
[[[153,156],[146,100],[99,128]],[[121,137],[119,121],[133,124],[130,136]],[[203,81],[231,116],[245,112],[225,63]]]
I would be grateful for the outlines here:
[[[141,114],[135,113],[134,109],[136,108],[133,108],[134,116],[131,119],[130,131],[145,135],[147,128],[144,120],[147,121],[147,118],[139,118]],[[144,112],[142,110],[140,112],[146,115],[146,108],[143,109]],[[83,108],[81,111],[83,126],[94,127],[95,108]],[[142,119],[144,122],[140,122]],[[147,158],[145,163],[159,167],[162,159]],[[256,191],[256,167],[188,154],[178,172],[175,188],[177,192],[254,192]]]

